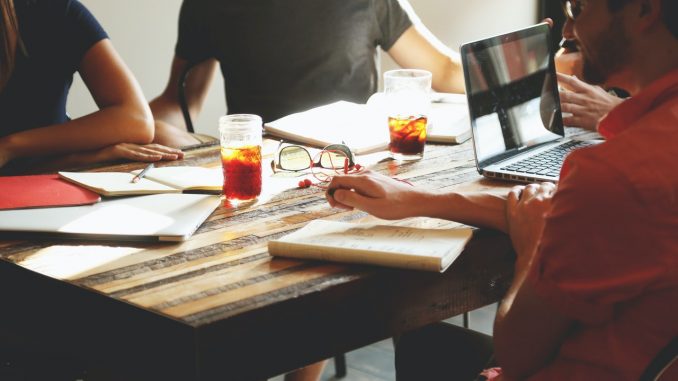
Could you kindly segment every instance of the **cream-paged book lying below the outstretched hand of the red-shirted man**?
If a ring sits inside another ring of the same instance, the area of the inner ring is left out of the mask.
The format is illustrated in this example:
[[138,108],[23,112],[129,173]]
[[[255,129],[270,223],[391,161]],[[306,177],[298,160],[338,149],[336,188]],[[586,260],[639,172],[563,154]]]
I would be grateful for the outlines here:
[[271,255],[445,271],[473,235],[470,228],[419,229],[315,220],[269,241]]

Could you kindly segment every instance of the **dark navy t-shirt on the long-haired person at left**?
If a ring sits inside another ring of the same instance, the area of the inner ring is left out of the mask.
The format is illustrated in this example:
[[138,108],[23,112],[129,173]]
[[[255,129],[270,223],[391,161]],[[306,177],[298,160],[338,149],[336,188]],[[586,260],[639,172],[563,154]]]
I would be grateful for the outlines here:
[[77,0],[14,0],[26,55],[0,92],[0,136],[67,121],[66,98],[85,53],[107,38]]

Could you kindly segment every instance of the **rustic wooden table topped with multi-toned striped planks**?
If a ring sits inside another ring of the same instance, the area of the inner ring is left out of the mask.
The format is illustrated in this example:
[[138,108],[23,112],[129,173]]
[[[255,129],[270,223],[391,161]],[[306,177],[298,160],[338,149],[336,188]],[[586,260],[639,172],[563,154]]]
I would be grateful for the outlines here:
[[[421,161],[372,167],[422,187],[507,189],[481,180],[471,150],[429,145]],[[206,147],[167,164],[217,160]],[[510,242],[487,230],[444,274],[273,259],[267,241],[313,219],[372,219],[329,208],[318,188],[283,188],[217,209],[180,244],[0,241],[0,337],[123,379],[262,379],[496,302],[510,283]]]

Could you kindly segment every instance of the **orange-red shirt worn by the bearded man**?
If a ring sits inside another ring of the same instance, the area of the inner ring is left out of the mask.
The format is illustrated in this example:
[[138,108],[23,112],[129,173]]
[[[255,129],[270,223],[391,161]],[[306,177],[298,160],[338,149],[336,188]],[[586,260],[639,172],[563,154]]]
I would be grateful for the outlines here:
[[678,70],[573,152],[530,282],[577,322],[530,380],[638,380],[678,335]]

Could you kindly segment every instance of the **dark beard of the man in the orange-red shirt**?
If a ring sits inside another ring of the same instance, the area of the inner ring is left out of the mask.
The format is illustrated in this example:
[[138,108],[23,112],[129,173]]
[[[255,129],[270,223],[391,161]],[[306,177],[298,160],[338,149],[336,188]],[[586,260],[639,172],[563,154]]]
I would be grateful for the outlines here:
[[582,75],[591,84],[602,85],[628,59],[628,38],[621,20],[612,19],[610,28],[582,49]]

